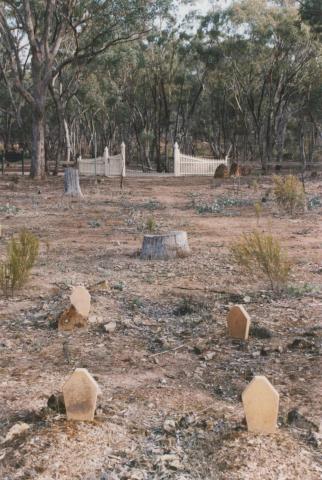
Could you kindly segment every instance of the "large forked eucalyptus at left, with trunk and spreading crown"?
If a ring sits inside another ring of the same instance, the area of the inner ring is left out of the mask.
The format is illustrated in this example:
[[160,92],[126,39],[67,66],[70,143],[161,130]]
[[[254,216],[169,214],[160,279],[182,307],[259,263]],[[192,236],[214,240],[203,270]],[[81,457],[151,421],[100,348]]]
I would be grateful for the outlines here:
[[46,102],[53,79],[69,65],[139,38],[159,6],[148,0],[1,2],[0,39],[10,78],[32,111],[33,177],[45,175]]

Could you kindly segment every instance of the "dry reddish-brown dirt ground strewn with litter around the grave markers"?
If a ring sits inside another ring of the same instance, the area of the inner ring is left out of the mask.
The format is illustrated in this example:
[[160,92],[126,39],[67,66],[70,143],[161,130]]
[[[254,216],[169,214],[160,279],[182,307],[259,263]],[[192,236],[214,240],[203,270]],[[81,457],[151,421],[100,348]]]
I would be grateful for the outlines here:
[[[290,218],[268,196],[257,219],[271,183],[127,178],[120,192],[118,179],[82,179],[85,199],[71,202],[61,177],[0,179],[1,254],[23,226],[41,241],[28,285],[0,298],[2,480],[322,478],[322,183],[306,185],[315,208]],[[186,230],[191,255],[140,260],[147,222]],[[284,293],[232,262],[230,243],[254,228],[289,252]],[[73,285],[90,289],[89,328],[59,333]],[[227,336],[235,303],[248,342]],[[76,367],[102,390],[93,423],[47,407]],[[241,393],[256,374],[280,394],[271,436],[246,430]],[[29,428],[6,439],[18,422]]]

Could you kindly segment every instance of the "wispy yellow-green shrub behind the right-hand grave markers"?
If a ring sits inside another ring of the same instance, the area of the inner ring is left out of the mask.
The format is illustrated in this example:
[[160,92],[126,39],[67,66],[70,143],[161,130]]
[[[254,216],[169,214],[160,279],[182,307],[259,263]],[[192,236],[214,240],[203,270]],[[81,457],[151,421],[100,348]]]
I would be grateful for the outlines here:
[[287,284],[291,265],[280,242],[272,235],[257,230],[245,234],[231,245],[231,254],[253,278],[259,272],[266,277],[273,290],[280,290]]

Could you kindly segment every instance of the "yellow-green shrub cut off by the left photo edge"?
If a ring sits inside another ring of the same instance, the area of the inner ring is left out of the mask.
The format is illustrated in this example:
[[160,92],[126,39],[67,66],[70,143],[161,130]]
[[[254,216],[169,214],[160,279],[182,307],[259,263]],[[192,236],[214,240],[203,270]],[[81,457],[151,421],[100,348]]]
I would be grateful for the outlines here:
[[0,263],[0,287],[6,296],[25,285],[38,253],[38,238],[25,228],[10,240],[7,258]]

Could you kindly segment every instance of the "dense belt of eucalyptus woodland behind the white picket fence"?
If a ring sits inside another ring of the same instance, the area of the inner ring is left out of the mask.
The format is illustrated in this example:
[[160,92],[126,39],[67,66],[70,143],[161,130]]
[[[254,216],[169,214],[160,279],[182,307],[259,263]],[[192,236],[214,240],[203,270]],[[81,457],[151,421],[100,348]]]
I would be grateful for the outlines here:
[[321,2],[240,0],[181,19],[158,0],[4,1],[0,135],[33,176],[125,140],[142,168],[172,145],[265,169],[317,160]]

